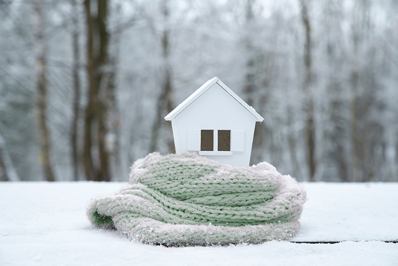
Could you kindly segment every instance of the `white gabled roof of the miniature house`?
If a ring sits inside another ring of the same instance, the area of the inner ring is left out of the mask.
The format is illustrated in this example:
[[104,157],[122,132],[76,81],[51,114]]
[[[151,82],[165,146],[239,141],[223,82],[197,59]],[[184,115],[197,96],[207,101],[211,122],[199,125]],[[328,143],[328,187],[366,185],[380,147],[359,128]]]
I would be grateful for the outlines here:
[[219,78],[214,77],[206,83],[204,83],[198,90],[196,90],[193,94],[190,95],[187,99],[184,100],[181,104],[179,104],[173,111],[171,111],[167,116],[165,116],[165,120],[171,121],[178,114],[180,114],[184,109],[186,109],[190,104],[192,104],[196,99],[200,97],[204,92],[206,92],[211,86],[217,83],[222,89],[224,89],[231,97],[233,97],[238,103],[240,103],[247,111],[252,113],[253,116],[256,117],[256,122],[263,122],[264,118],[260,116],[253,107],[249,106],[245,103],[239,96],[237,96],[227,85],[225,85]]

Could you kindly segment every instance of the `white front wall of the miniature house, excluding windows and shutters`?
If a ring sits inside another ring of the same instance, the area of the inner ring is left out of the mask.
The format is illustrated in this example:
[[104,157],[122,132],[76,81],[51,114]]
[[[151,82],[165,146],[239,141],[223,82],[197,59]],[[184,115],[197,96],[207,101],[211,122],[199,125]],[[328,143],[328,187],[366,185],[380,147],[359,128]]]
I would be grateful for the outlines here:
[[[172,123],[177,153],[188,151],[188,130],[245,131],[243,151],[205,156],[232,166],[249,166],[256,118],[217,83],[177,115]],[[200,143],[200,138],[198,141]]]

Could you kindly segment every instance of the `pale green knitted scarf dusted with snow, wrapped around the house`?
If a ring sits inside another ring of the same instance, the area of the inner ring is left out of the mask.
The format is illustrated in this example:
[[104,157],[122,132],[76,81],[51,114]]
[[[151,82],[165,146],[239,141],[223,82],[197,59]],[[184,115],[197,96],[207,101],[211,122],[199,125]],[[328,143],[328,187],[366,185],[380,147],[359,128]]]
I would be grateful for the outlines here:
[[286,240],[298,233],[305,191],[262,162],[232,167],[193,154],[148,154],[130,182],[87,209],[100,228],[143,243],[228,245]]

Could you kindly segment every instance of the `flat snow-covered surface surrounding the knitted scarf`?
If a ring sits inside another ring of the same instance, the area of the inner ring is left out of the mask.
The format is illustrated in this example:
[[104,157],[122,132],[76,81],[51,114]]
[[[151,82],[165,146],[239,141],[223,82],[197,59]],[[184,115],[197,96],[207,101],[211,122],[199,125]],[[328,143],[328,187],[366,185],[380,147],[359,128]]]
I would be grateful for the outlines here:
[[93,228],[90,199],[123,185],[0,183],[0,265],[398,266],[398,183],[301,183],[307,202],[290,242],[188,248]]

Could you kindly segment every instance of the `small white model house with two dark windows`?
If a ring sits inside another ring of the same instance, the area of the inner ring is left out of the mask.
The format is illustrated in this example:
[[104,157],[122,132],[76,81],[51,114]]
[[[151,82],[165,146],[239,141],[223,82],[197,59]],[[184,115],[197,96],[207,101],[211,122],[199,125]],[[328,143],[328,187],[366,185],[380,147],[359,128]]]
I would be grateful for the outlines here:
[[224,164],[248,167],[256,122],[264,119],[217,77],[170,112],[176,153],[198,152]]

